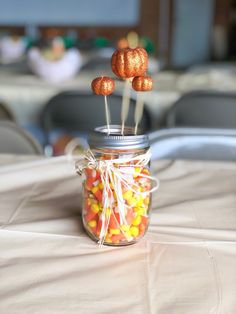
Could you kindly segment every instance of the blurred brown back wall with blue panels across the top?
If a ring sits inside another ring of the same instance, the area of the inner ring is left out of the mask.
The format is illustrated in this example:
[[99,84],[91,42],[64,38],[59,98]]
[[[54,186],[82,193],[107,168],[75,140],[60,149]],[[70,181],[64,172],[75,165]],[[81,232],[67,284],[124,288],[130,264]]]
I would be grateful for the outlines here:
[[236,0],[2,0],[0,31],[47,37],[73,30],[114,42],[131,30],[147,36],[169,67],[234,59]]

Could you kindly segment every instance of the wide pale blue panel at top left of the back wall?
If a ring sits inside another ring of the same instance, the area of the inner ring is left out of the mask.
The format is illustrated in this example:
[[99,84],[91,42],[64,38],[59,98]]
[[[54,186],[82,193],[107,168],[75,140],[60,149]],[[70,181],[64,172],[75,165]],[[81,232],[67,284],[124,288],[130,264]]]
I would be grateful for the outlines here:
[[2,0],[0,10],[5,25],[133,26],[138,20],[139,0]]

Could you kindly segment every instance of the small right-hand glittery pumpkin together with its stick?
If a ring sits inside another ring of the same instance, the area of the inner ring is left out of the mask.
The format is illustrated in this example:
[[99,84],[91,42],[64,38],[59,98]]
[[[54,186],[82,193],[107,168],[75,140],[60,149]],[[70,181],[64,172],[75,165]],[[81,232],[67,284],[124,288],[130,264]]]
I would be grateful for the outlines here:
[[137,102],[134,113],[135,131],[137,134],[138,124],[142,119],[144,99],[141,92],[149,92],[152,90],[153,80],[150,76],[136,76],[133,78],[132,87],[137,93]]

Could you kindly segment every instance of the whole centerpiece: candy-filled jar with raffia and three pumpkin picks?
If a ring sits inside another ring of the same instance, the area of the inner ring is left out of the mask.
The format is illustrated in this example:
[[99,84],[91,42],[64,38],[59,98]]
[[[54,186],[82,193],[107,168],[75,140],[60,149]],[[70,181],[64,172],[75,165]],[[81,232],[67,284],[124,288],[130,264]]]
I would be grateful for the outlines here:
[[[152,79],[146,76],[147,66],[148,55],[143,48],[118,50],[112,56],[112,70],[125,80],[126,91],[131,86],[138,92],[152,89]],[[85,175],[83,224],[88,235],[100,244],[128,245],[145,234],[150,218],[153,178],[149,170],[149,142],[147,135],[137,134],[143,104],[137,101],[136,111],[139,114],[135,112],[135,128],[129,128],[129,132],[125,133],[127,116],[123,113],[128,111],[129,101],[123,101],[122,125],[118,126],[118,132],[114,132],[107,102],[107,96],[115,89],[114,80],[98,77],[91,87],[97,95],[105,96],[107,127],[100,136],[104,143],[110,141],[112,145],[98,145],[95,150],[90,146],[89,156],[85,158],[87,163],[82,171],[78,171]],[[123,97],[127,98],[127,95]],[[145,145],[142,142],[144,139]],[[121,144],[114,149],[116,140]],[[138,146],[139,142],[141,146]]]

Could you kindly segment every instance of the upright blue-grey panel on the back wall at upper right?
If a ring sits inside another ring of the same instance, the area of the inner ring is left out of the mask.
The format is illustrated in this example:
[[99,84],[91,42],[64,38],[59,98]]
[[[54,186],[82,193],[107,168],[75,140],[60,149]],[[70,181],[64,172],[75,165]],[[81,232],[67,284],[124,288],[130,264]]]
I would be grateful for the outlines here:
[[214,0],[176,0],[173,11],[171,64],[186,67],[208,60]]

